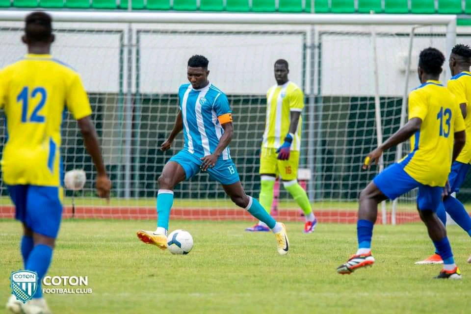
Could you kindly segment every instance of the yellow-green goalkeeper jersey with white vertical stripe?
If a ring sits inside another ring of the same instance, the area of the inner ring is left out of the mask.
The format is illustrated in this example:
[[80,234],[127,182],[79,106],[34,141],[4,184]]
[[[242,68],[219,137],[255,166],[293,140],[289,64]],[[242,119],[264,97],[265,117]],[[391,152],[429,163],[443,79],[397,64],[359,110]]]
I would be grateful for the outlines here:
[[[301,112],[304,108],[304,93],[293,82],[274,85],[266,92],[266,120],[263,132],[262,147],[279,148],[289,132],[290,112]],[[301,148],[302,118],[299,117],[298,128],[291,143],[292,151]]]

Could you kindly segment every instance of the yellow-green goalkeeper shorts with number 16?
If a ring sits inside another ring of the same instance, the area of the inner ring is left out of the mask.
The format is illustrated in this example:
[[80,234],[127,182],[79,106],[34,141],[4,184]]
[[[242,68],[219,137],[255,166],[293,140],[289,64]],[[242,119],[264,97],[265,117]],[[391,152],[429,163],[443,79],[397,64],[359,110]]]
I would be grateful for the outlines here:
[[283,181],[298,178],[299,151],[291,151],[288,160],[279,160],[276,149],[262,148],[260,155],[260,174],[274,174]]

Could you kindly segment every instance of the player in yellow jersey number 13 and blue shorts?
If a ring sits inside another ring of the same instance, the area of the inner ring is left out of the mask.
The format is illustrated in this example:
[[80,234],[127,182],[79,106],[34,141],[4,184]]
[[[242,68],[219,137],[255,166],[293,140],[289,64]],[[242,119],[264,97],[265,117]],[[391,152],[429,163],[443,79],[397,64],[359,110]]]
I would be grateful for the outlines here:
[[461,279],[446,229],[436,215],[451,163],[466,141],[465,123],[456,97],[439,81],[445,56],[435,48],[419,55],[419,79],[422,85],[409,94],[409,121],[386,142],[368,154],[364,169],[378,163],[383,151],[411,138],[412,151],[401,161],[377,175],[360,194],[357,235],[358,251],[337,268],[340,274],[371,266],[371,237],[378,214],[378,204],[418,187],[417,209],[427,226],[444,268],[435,278]]

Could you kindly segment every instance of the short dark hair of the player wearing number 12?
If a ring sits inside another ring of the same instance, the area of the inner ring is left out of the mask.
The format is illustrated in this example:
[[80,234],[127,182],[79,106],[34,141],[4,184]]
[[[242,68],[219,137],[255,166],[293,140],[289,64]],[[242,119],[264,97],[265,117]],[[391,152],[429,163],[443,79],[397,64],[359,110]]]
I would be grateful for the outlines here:
[[49,41],[52,34],[52,18],[49,14],[43,11],[36,11],[28,14],[25,22],[26,37],[31,42],[47,43]]

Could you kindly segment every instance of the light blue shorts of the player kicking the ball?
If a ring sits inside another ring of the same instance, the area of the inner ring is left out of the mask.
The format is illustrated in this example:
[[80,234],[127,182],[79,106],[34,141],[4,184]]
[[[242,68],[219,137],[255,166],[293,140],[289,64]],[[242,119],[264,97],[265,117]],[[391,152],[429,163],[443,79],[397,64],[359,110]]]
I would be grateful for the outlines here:
[[[180,151],[177,155],[170,158],[169,161],[174,161],[181,165],[185,170],[186,180],[197,175],[200,172],[200,166],[203,161],[188,153],[187,151]],[[208,168],[206,171],[209,173],[209,177],[223,185],[233,184],[239,182],[239,174],[235,168],[235,164],[232,159],[222,160],[218,159],[213,168]]]

